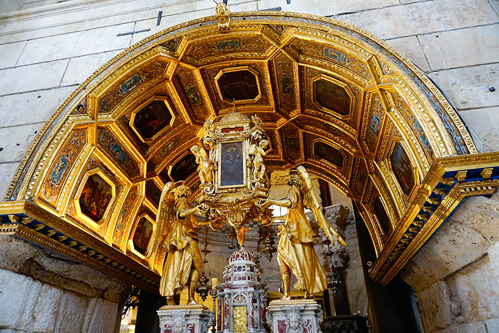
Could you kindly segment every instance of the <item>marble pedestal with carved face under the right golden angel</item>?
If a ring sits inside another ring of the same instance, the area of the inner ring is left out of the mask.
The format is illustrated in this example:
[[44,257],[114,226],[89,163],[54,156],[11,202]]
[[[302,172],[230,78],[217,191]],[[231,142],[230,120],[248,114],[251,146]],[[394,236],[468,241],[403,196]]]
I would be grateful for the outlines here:
[[273,333],[320,333],[322,309],[314,300],[272,301],[267,324]]

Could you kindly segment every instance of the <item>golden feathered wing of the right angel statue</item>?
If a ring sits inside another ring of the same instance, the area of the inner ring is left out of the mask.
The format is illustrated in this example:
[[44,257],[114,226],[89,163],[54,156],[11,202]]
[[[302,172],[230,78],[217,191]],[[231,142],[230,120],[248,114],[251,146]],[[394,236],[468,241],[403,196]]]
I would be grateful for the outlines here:
[[341,244],[347,246],[343,237],[341,237],[340,234],[331,226],[331,224],[329,224],[326,217],[322,213],[322,207],[319,203],[317,195],[313,190],[312,181],[308,176],[307,170],[303,166],[298,166],[297,169],[301,178],[303,179],[303,203],[308,209],[312,211],[315,221],[317,221],[322,230],[324,230],[326,237],[329,238],[331,242],[333,241],[332,235],[334,235]]

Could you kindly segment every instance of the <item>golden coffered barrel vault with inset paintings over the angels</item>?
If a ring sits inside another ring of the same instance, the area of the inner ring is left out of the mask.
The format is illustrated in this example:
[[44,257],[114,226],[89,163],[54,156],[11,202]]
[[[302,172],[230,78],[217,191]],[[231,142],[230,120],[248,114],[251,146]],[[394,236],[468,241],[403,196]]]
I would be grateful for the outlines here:
[[355,199],[378,254],[410,227],[432,165],[477,153],[439,90],[383,41],[323,17],[233,13],[227,30],[207,17],[157,33],[82,83],[26,153],[0,215],[32,218],[47,247],[154,289],[164,253],[144,257],[133,237],[154,232],[167,181],[199,193],[189,148],[234,101],[262,120],[268,168],[303,165]]

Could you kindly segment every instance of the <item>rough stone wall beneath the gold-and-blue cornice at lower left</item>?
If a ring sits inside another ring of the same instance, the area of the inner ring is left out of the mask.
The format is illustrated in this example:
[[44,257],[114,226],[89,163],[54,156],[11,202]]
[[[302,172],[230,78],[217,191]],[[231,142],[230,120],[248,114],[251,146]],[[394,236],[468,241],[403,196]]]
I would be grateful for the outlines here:
[[128,292],[127,284],[92,268],[0,236],[0,332],[119,332]]

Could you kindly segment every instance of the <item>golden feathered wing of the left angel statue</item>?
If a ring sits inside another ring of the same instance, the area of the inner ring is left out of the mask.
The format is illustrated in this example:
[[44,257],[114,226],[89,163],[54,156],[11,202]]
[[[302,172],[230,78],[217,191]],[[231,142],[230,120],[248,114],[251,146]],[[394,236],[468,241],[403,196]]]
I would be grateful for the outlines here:
[[146,257],[150,257],[156,251],[159,242],[168,232],[170,222],[175,219],[175,200],[170,194],[174,188],[175,184],[170,181],[163,188],[163,192],[161,192],[158,215],[156,216],[156,232],[153,234],[151,246],[149,246]]

